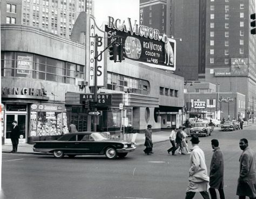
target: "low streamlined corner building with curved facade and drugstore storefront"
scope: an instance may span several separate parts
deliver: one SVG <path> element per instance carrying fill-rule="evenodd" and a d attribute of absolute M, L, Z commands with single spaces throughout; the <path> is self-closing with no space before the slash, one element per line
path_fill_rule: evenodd
<path fill-rule="evenodd" d="M 97 131 L 120 131 L 123 118 L 137 132 L 148 124 L 153 129 L 167 122 L 180 125 L 182 77 L 129 59 L 113 63 L 105 53 L 104 86 L 98 94 L 111 95 L 112 102 L 97 107 L 102 112 Z M 56 139 L 68 133 L 70 121 L 78 131 L 91 131 L 89 108 L 79 101 L 80 95 L 91 93 L 88 86 L 79 87 L 89 79 L 84 44 L 32 26 L 5 24 L 1 25 L 1 63 L 5 142 L 10 142 L 13 120 L 21 127 L 21 142 Z"/>

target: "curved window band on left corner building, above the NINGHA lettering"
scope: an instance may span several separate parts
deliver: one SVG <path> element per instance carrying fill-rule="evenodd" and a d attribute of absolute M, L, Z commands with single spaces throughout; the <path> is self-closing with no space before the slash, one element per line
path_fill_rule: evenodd
<path fill-rule="evenodd" d="M 84 66 L 24 52 L 1 52 L 2 76 L 35 78 L 75 84 Z"/>

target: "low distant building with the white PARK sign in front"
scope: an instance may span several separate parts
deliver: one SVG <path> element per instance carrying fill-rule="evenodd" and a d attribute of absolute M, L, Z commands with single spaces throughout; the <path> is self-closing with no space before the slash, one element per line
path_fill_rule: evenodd
<path fill-rule="evenodd" d="M 186 118 L 244 119 L 245 95 L 219 92 L 219 87 L 220 85 L 212 83 L 186 84 L 184 86 Z M 201 106 L 197 106 L 200 103 Z"/>

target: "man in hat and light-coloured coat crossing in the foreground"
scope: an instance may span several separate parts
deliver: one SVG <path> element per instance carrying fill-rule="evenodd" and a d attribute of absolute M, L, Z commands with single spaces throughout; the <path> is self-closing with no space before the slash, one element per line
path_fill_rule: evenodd
<path fill-rule="evenodd" d="M 210 199 L 205 154 L 198 146 L 200 142 L 198 136 L 192 136 L 190 141 L 192 143 L 192 152 L 190 155 L 190 169 L 188 170 L 188 186 L 185 199 L 193 198 L 197 192 L 200 192 L 204 199 Z"/>

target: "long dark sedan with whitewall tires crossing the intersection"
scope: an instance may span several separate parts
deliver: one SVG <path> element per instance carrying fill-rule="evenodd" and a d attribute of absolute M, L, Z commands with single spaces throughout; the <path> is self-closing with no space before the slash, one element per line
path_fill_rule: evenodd
<path fill-rule="evenodd" d="M 136 149 L 134 142 L 108 140 L 99 132 L 68 133 L 58 140 L 36 141 L 34 152 L 52 153 L 56 158 L 64 155 L 106 155 L 109 159 L 125 157 Z"/>

